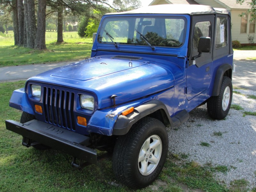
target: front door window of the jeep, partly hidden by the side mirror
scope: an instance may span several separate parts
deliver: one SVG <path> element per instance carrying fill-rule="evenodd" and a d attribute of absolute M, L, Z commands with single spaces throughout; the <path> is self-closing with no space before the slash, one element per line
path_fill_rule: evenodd
<path fill-rule="evenodd" d="M 193 48 L 198 48 L 200 37 L 211 37 L 211 23 L 210 21 L 197 22 L 194 27 Z"/>

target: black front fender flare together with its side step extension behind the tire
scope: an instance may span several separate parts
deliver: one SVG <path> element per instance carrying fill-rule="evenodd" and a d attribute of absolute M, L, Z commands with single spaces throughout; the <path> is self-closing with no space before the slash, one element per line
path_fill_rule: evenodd
<path fill-rule="evenodd" d="M 188 119 L 188 112 L 182 110 L 174 117 L 170 117 L 169 112 L 160 100 L 150 100 L 139 107 L 134 108 L 134 111 L 127 116 L 120 115 L 113 128 L 112 135 L 125 135 L 131 129 L 132 125 L 145 116 L 154 117 L 154 112 L 159 112 L 161 120 L 166 127 L 176 127 Z M 156 114 L 155 114 L 156 115 Z"/>

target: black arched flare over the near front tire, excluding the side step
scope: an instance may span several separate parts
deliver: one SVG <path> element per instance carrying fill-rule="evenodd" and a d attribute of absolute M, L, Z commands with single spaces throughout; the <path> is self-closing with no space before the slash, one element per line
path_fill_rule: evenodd
<path fill-rule="evenodd" d="M 158 119 L 166 127 L 170 127 L 173 124 L 164 103 L 160 100 L 150 100 L 147 103 L 134 108 L 133 113 L 127 116 L 120 115 L 116 120 L 112 134 L 125 135 L 127 132 L 129 132 L 133 124 L 146 116 Z"/>

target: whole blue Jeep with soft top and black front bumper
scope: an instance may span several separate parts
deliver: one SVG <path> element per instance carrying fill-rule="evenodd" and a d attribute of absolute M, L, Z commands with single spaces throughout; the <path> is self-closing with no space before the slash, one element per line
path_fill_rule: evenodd
<path fill-rule="evenodd" d="M 117 180 L 143 188 L 161 172 L 166 127 L 207 102 L 223 119 L 232 100 L 230 13 L 204 5 L 157 5 L 109 13 L 94 36 L 91 58 L 52 69 L 15 90 L 23 111 L 6 128 L 22 145 L 74 156 L 72 165 L 113 153 Z"/>

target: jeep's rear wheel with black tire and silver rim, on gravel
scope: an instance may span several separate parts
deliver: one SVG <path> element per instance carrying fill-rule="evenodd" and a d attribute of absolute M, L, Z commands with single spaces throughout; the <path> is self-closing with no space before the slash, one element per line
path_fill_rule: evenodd
<path fill-rule="evenodd" d="M 218 96 L 210 97 L 207 101 L 207 111 L 209 116 L 213 119 L 224 119 L 228 115 L 231 106 L 232 94 L 233 87 L 231 79 L 227 76 L 223 76 L 220 87 L 220 94 Z M 228 98 L 225 99 L 225 97 L 229 97 L 229 100 L 227 100 Z M 223 105 L 223 102 L 228 103 Z"/>

